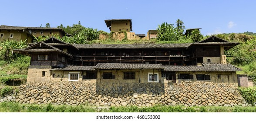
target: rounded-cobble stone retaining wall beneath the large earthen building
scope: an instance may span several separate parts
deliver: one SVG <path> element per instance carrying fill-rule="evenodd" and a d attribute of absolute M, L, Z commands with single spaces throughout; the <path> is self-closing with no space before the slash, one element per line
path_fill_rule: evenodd
<path fill-rule="evenodd" d="M 95 106 L 247 106 L 237 83 L 42 82 L 19 87 L 0 102 Z M 15 91 L 13 91 L 15 92 Z"/>

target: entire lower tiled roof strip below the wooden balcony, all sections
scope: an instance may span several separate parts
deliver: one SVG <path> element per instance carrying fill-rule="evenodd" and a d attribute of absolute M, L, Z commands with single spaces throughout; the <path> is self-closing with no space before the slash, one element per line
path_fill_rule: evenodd
<path fill-rule="evenodd" d="M 98 64 L 97 66 L 67 66 L 51 70 L 115 70 L 115 69 L 164 69 L 165 71 L 240 71 L 231 64 L 205 66 L 162 66 L 162 64 Z"/>

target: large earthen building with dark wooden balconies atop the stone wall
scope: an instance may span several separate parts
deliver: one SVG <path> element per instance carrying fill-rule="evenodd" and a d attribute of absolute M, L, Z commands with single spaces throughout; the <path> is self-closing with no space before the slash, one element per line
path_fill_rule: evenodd
<path fill-rule="evenodd" d="M 52 37 L 14 52 L 31 57 L 27 83 L 237 83 L 240 69 L 227 64 L 224 51 L 238 44 L 210 36 L 186 44 L 72 45 Z"/>

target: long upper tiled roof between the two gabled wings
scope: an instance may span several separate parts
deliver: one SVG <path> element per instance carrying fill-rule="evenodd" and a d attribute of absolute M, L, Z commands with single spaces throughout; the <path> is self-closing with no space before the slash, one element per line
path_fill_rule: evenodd
<path fill-rule="evenodd" d="M 103 49 L 103 48 L 187 48 L 192 43 L 182 44 L 74 44 L 76 48 Z"/>

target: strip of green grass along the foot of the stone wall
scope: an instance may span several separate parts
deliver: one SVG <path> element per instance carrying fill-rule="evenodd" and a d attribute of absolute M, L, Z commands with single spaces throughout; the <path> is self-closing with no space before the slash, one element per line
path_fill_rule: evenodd
<path fill-rule="evenodd" d="M 92 107 L 85 105 L 31 105 L 15 102 L 0 103 L 0 112 L 256 112 L 256 107 L 183 107 L 183 106 L 152 106 L 152 107 Z"/>

